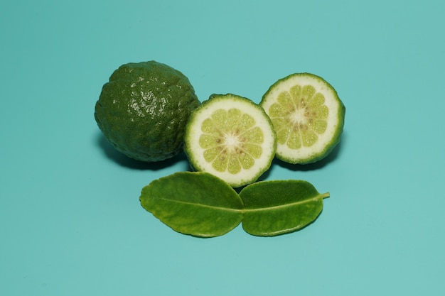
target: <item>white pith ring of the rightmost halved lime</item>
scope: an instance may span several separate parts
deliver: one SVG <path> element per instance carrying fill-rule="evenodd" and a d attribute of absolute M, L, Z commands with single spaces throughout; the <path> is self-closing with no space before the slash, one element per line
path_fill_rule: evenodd
<path fill-rule="evenodd" d="M 301 86 L 311 85 L 315 88 L 316 92 L 323 94 L 323 97 L 325 98 L 324 105 L 326 105 L 329 110 L 328 118 L 326 119 L 328 123 L 326 131 L 322 134 L 317 134 L 318 141 L 316 141 L 313 146 L 301 146 L 299 149 L 292 149 L 289 148 L 286 143 L 277 143 L 277 155 L 298 163 L 300 160 L 308 160 L 323 153 L 323 151 L 326 150 L 326 147 L 331 144 L 338 130 L 338 125 L 340 124 L 338 114 L 341 108 L 341 103 L 338 101 L 335 90 L 326 84 L 326 82 L 320 80 L 320 78 L 313 77 L 312 75 L 294 75 L 286 80 L 278 82 L 274 87 L 269 89 L 269 92 L 265 95 L 261 104 L 266 113 L 269 114 L 269 108 L 272 104 L 277 102 L 279 94 L 289 91 L 289 89 L 296 84 Z M 295 115 L 297 116 L 298 114 Z M 302 116 L 302 118 L 304 118 L 304 116 Z M 298 121 L 301 122 L 301 119 Z"/>

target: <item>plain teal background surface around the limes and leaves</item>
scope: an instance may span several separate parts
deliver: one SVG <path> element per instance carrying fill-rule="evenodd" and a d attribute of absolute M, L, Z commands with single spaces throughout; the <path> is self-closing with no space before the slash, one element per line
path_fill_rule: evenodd
<path fill-rule="evenodd" d="M 445 2 L 2 1 L 0 295 L 441 295 L 445 290 Z M 144 165 L 93 112 L 127 62 L 181 70 L 201 101 L 259 102 L 294 72 L 347 110 L 321 163 L 275 161 L 321 216 L 272 238 L 198 239 L 141 208 L 183 155 Z"/>

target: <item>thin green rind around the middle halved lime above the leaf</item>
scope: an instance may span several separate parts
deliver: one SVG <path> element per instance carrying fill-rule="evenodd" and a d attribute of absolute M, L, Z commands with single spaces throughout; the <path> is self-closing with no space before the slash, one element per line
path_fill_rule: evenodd
<path fill-rule="evenodd" d="M 230 181 L 225 180 L 223 177 L 218 176 L 218 177 L 221 177 L 223 180 L 225 180 L 225 182 L 227 182 L 230 186 L 237 188 L 237 187 L 242 187 L 244 185 L 251 184 L 252 182 L 255 182 L 256 180 L 258 180 L 258 178 L 261 177 L 261 175 L 263 175 L 264 172 L 269 170 L 270 166 L 272 165 L 272 161 L 274 160 L 274 156 L 275 156 L 275 152 L 276 152 L 276 148 L 277 148 L 276 147 L 277 146 L 277 134 L 274 131 L 272 121 L 270 121 L 269 116 L 266 114 L 266 112 L 264 111 L 262 106 L 259 106 L 259 104 L 255 104 L 250 99 L 247 99 L 245 97 L 240 97 L 236 94 L 212 94 L 212 95 L 210 95 L 208 100 L 202 102 L 200 104 L 200 106 L 198 106 L 195 110 L 192 111 L 191 116 L 188 119 L 188 123 L 186 125 L 185 136 L 184 136 L 184 152 L 186 153 L 188 161 L 189 161 L 191 168 L 193 170 L 205 171 L 205 168 L 202 165 L 198 165 L 197 161 L 195 161 L 195 158 L 193 157 L 193 154 L 195 153 L 195 148 L 193 148 L 193 145 L 191 143 L 190 135 L 191 135 L 191 133 L 193 133 L 193 131 L 195 131 L 196 128 L 198 128 L 197 126 L 195 126 L 195 121 L 196 121 L 195 118 L 198 116 L 199 112 L 201 110 L 205 109 L 210 104 L 215 104 L 215 102 L 223 101 L 225 99 L 225 97 L 227 97 L 227 96 L 237 97 L 238 99 L 242 99 L 245 102 L 249 102 L 249 104 L 251 106 L 254 106 L 254 108 L 259 110 L 260 113 L 264 116 L 264 119 L 272 127 L 272 136 L 273 136 L 273 139 L 272 139 L 273 152 L 271 154 L 271 157 L 265 161 L 262 168 L 260 168 L 257 171 L 257 173 L 254 174 L 252 177 L 250 177 L 248 179 L 239 178 L 237 180 L 237 182 L 230 182 Z"/>

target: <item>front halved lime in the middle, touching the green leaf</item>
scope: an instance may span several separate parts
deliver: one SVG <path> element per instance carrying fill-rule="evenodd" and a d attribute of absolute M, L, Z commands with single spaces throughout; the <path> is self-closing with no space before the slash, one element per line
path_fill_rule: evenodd
<path fill-rule="evenodd" d="M 264 109 L 235 94 L 210 96 L 192 112 L 186 126 L 184 150 L 193 168 L 232 187 L 257 180 L 270 167 L 276 146 Z"/>

